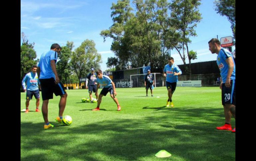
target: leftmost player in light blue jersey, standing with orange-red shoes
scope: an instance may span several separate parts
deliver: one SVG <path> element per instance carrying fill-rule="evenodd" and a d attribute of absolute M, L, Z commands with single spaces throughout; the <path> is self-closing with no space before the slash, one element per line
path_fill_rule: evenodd
<path fill-rule="evenodd" d="M 27 88 L 26 88 L 27 84 Z M 26 112 L 29 112 L 29 101 L 32 99 L 33 95 L 36 98 L 36 112 L 41 112 L 38 107 L 40 104 L 40 93 L 38 89 L 39 78 L 37 76 L 37 66 L 33 65 L 31 68 L 31 72 L 27 73 L 26 76 L 22 80 L 23 90 L 27 92 L 26 94 Z"/>

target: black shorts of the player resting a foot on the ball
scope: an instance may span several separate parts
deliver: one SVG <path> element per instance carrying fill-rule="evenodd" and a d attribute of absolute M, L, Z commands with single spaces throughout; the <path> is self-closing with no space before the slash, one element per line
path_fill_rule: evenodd
<path fill-rule="evenodd" d="M 63 84 L 61 82 L 58 84 L 55 84 L 54 78 L 39 79 L 39 80 L 41 84 L 43 100 L 53 99 L 53 93 L 55 94 L 55 96 L 64 95 L 66 93 L 66 90 Z"/>

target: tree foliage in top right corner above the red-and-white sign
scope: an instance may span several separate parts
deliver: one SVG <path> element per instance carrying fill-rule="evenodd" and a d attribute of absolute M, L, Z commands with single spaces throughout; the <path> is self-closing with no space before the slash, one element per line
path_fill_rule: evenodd
<path fill-rule="evenodd" d="M 215 0 L 215 11 L 221 16 L 227 16 L 228 21 L 231 23 L 231 29 L 235 39 L 235 29 L 236 29 L 236 6 L 235 0 Z"/>

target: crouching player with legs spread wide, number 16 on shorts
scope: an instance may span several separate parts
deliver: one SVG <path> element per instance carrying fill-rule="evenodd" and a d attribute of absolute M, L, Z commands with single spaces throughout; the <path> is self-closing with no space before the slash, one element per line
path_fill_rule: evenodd
<path fill-rule="evenodd" d="M 120 111 L 121 106 L 119 105 L 119 102 L 118 102 L 117 98 L 115 97 L 117 95 L 117 93 L 116 93 L 116 87 L 115 87 L 114 82 L 112 82 L 112 80 L 108 76 L 103 75 L 101 70 L 97 70 L 96 73 L 97 73 L 97 76 L 98 76 L 98 78 L 96 79 L 96 81 L 98 83 L 96 93 L 98 93 L 98 89 L 100 87 L 100 84 L 103 86 L 103 89 L 101 90 L 101 92 L 99 94 L 99 98 L 98 98 L 98 102 L 97 102 L 97 108 L 93 109 L 92 111 L 99 111 L 101 98 L 103 96 L 106 96 L 108 92 L 110 93 L 110 97 L 114 100 L 114 102 L 117 105 L 117 111 Z"/>

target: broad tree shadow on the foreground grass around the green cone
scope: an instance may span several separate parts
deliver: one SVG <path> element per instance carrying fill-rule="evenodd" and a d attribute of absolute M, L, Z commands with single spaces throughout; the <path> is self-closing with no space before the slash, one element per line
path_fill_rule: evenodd
<path fill-rule="evenodd" d="M 21 160 L 157 160 L 162 149 L 172 157 L 161 160 L 235 160 L 235 135 L 216 131 L 216 119 L 205 116 L 219 110 L 190 108 L 47 130 L 42 123 L 21 123 Z M 35 149 L 40 155 L 29 153 Z"/>

